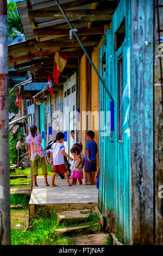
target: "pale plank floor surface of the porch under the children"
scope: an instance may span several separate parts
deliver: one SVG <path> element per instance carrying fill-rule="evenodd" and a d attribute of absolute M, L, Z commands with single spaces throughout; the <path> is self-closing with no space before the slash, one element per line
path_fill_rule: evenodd
<path fill-rule="evenodd" d="M 51 184 L 51 176 L 48 176 L 48 183 Z M 70 178 L 71 182 L 71 178 Z M 33 187 L 29 205 L 51 205 L 51 204 L 81 204 L 98 202 L 98 190 L 96 185 L 79 185 L 69 187 L 66 179 L 60 177 L 55 179 L 58 187 L 47 187 L 43 176 L 37 176 L 38 187 Z"/>

